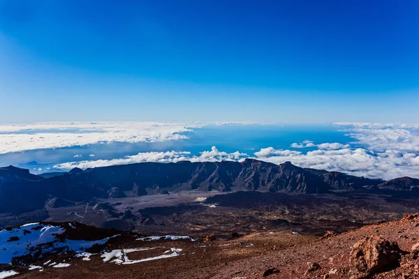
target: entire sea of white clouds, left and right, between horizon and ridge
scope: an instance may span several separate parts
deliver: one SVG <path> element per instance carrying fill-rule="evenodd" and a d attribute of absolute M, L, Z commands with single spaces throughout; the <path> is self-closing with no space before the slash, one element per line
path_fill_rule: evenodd
<path fill-rule="evenodd" d="M 0 126 L 0 154 L 108 142 L 187 140 L 187 133 L 193 128 L 247 124 L 255 123 L 86 122 Z M 90 160 L 61 163 L 54 168 L 68 170 L 74 167 L 85 169 L 142 162 L 175 163 L 181 160 L 214 162 L 256 158 L 275 164 L 291 161 L 300 167 L 327 169 L 371 178 L 419 177 L 419 124 L 335 123 L 334 125 L 348 135 L 350 142 L 313 142 L 307 139 L 291 144 L 289 149 L 274 149 L 272 146 L 267 146 L 254 153 L 239 151 L 227 153 L 213 146 L 210 151 L 202 151 L 199 155 L 187 151 L 166 151 L 142 152 L 112 160 L 94 160 L 94 156 L 91 156 Z M 76 132 L 63 133 L 65 130 L 76 130 Z M 307 148 L 311 151 L 304 151 Z"/>

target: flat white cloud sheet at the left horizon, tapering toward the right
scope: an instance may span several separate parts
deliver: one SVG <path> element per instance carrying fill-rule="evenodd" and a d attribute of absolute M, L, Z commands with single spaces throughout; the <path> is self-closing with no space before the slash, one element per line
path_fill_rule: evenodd
<path fill-rule="evenodd" d="M 186 140 L 193 128 L 257 122 L 43 122 L 0 126 L 0 154 L 109 142 Z"/>

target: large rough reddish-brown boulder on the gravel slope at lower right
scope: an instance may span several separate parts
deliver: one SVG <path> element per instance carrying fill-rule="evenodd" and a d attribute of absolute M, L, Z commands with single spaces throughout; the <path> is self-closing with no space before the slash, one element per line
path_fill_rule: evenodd
<path fill-rule="evenodd" d="M 353 245 L 351 265 L 358 278 L 372 276 L 399 266 L 401 252 L 393 241 L 386 241 L 380 236 L 367 236 Z"/>

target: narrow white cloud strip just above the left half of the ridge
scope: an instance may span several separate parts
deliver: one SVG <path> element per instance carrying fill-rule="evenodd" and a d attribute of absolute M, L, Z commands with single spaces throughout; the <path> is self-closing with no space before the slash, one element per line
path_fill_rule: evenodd
<path fill-rule="evenodd" d="M 158 162 L 158 163 L 175 163 L 182 160 L 190 160 L 191 162 L 218 162 L 221 160 L 240 160 L 247 157 L 248 154 L 238 151 L 227 153 L 219 151 L 212 146 L 211 151 L 203 151 L 200 156 L 191 156 L 188 151 L 167 151 L 167 152 L 142 152 L 133 156 L 125 156 L 112 160 L 84 160 L 80 162 L 68 162 L 54 165 L 56 169 L 69 170 L 74 167 L 87 169 L 88 167 L 105 167 L 109 165 L 126 165 L 132 163 Z"/>

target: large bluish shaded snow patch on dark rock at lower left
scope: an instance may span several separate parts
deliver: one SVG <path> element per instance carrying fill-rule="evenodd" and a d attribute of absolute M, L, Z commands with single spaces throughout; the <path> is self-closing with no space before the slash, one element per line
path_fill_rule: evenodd
<path fill-rule="evenodd" d="M 0 231 L 0 264 L 10 264 L 15 257 L 34 256 L 35 252 L 84 252 L 95 244 L 104 244 L 109 238 L 97 241 L 61 239 L 66 232 L 59 225 L 31 223 Z M 45 265 L 45 264 L 44 264 Z"/>

